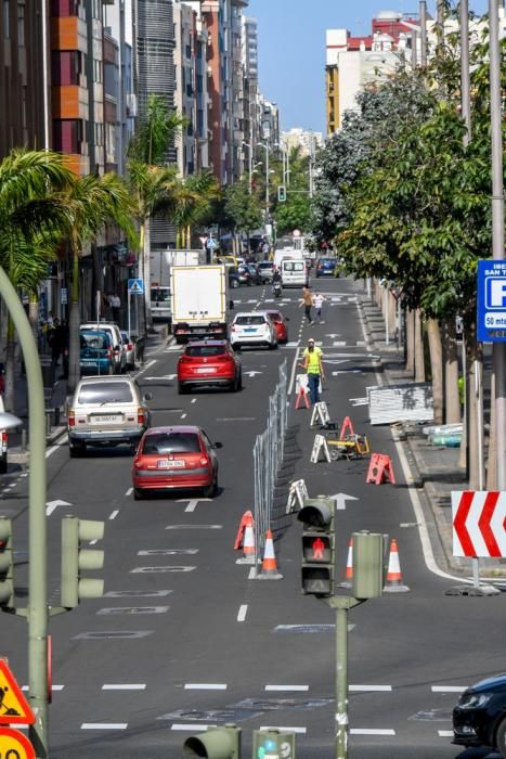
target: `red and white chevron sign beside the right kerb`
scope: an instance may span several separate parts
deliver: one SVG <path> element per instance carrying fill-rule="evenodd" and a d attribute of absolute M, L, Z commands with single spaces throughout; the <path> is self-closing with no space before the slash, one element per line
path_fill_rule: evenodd
<path fill-rule="evenodd" d="M 452 492 L 453 555 L 506 556 L 506 492 Z"/>

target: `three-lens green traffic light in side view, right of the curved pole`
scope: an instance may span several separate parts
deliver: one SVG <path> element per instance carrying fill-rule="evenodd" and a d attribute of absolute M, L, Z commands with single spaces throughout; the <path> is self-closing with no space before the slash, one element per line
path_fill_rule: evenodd
<path fill-rule="evenodd" d="M 102 569 L 104 552 L 81 549 L 81 540 L 102 540 L 104 523 L 65 516 L 62 519 L 62 606 L 75 608 L 81 599 L 100 599 L 104 581 L 80 577 L 81 569 Z"/>

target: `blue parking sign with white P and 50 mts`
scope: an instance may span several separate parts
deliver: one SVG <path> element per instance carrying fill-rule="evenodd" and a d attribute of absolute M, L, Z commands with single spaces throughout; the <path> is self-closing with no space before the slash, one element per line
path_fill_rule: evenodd
<path fill-rule="evenodd" d="M 478 339 L 506 343 L 506 260 L 478 261 Z"/>

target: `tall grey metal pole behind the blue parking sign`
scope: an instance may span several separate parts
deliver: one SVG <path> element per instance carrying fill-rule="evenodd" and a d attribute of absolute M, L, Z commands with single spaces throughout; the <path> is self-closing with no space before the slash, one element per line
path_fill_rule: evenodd
<path fill-rule="evenodd" d="M 490 119 L 492 139 L 492 256 L 504 260 L 504 185 L 498 2 L 489 0 Z M 493 344 L 497 490 L 506 490 L 506 344 Z"/>

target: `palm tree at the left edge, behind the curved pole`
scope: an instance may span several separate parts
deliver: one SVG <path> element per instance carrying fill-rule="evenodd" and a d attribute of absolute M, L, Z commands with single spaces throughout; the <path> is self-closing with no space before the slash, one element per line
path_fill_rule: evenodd
<path fill-rule="evenodd" d="M 14 150 L 0 164 L 0 266 L 15 287 L 35 298 L 48 260 L 68 224 L 60 193 L 73 180 L 65 157 Z M 5 408 L 14 410 L 14 325 L 8 320 Z"/>

